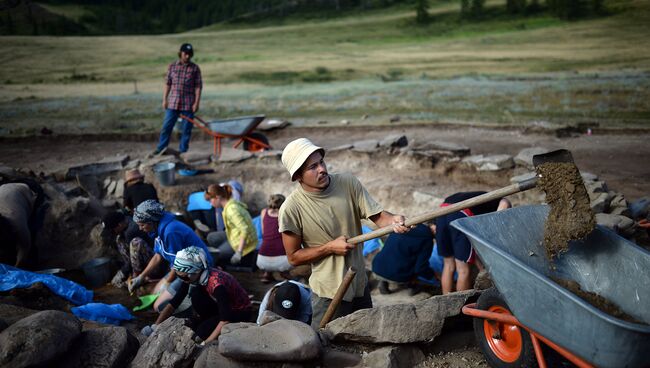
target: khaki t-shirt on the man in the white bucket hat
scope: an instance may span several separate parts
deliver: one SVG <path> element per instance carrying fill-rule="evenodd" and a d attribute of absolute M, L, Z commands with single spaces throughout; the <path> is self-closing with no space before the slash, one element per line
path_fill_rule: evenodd
<path fill-rule="evenodd" d="M 361 219 L 382 211 L 359 180 L 351 174 L 330 174 L 330 185 L 322 192 L 296 188 L 280 207 L 280 232 L 302 237 L 303 247 L 319 247 L 343 235 L 361 234 Z M 357 274 L 343 300 L 363 296 L 368 279 L 365 273 L 363 245 L 345 256 L 330 255 L 311 265 L 309 286 L 322 298 L 333 298 L 348 267 Z"/>

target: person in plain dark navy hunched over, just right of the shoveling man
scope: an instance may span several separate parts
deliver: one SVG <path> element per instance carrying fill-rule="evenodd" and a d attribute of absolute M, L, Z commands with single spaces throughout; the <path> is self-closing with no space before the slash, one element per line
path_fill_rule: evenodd
<path fill-rule="evenodd" d="M 378 276 L 379 292 L 390 294 L 388 282 L 408 284 L 410 294 L 420 291 L 417 278 L 432 279 L 435 271 L 429 266 L 433 251 L 434 231 L 430 226 L 419 224 L 404 234 L 388 236 L 384 247 L 372 260 L 372 272 Z"/>

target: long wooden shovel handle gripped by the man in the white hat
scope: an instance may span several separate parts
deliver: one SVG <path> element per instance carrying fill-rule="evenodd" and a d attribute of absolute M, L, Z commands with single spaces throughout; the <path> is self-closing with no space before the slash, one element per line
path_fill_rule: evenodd
<path fill-rule="evenodd" d="M 470 198 L 467 200 L 464 200 L 462 202 L 450 204 L 449 206 L 446 207 L 441 207 L 438 208 L 434 211 L 424 213 L 415 217 L 411 217 L 410 219 L 407 219 L 406 222 L 404 223 L 405 226 L 412 226 L 412 225 L 417 225 L 421 224 L 423 222 L 431 221 L 436 217 L 448 215 L 450 213 L 454 213 L 456 211 L 464 210 L 466 208 L 474 207 L 479 204 L 483 204 L 489 201 L 492 201 L 494 199 L 498 198 L 503 198 L 505 196 L 509 196 L 511 194 L 523 192 L 525 190 L 534 188 L 537 185 L 537 176 L 521 181 L 519 183 L 515 183 L 512 185 L 509 185 L 507 187 L 503 187 L 501 189 L 493 190 L 491 192 L 481 194 L 480 196 Z M 366 234 L 358 235 L 355 237 L 352 237 L 350 239 L 347 239 L 347 242 L 350 244 L 358 244 L 358 243 L 363 243 L 365 241 L 371 240 L 378 238 L 380 236 L 384 236 L 387 234 L 390 234 L 393 232 L 393 226 L 384 226 L 380 229 L 371 231 Z"/>

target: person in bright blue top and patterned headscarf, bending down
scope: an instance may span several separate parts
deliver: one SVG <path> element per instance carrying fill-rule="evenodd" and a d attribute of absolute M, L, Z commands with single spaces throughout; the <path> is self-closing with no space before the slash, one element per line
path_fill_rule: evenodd
<path fill-rule="evenodd" d="M 128 285 L 129 292 L 147 281 L 147 276 L 156 270 L 163 260 L 169 262 L 170 266 L 173 265 L 176 253 L 184 248 L 196 246 L 203 249 L 207 254 L 208 264 L 212 264 L 212 257 L 207 252 L 203 240 L 194 233 L 192 228 L 166 212 L 158 201 L 150 199 L 140 203 L 133 213 L 133 221 L 138 224 L 140 230 L 154 238 L 154 255 L 140 275 L 131 280 Z M 168 300 L 180 286 L 181 281 L 176 280 L 174 272 L 170 271 L 165 277 L 162 288 L 168 289 L 170 295 L 162 294 L 156 301 L 156 306 L 162 307 L 163 302 Z"/>

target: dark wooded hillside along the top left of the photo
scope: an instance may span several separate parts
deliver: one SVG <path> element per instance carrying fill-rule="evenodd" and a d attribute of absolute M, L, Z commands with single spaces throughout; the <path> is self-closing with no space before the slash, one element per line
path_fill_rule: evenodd
<path fill-rule="evenodd" d="M 412 4 L 414 0 L 0 0 L 0 34 L 177 33 L 220 22 L 292 14 L 320 17 Z"/>

